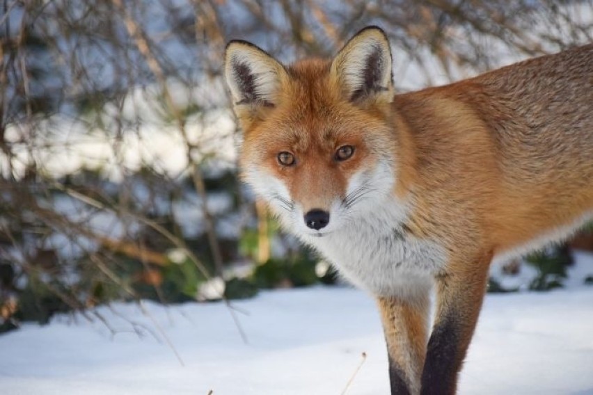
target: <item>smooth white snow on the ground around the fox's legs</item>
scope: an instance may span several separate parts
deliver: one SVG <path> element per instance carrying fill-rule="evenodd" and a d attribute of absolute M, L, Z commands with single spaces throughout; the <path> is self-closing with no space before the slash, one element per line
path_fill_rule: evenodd
<path fill-rule="evenodd" d="M 577 258 L 572 274 L 593 273 L 593 256 Z M 267 291 L 232 307 L 98 308 L 113 332 L 79 315 L 26 324 L 0 336 L 1 392 L 342 394 L 362 363 L 346 393 L 388 394 L 379 315 L 362 291 Z M 459 393 L 593 394 L 592 332 L 593 287 L 582 281 L 546 293 L 488 295 Z"/>

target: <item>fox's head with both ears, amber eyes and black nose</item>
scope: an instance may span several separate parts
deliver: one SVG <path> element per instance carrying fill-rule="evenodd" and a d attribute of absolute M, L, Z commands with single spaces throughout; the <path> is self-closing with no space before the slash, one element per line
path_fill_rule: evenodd
<path fill-rule="evenodd" d="M 242 178 L 292 232 L 324 236 L 356 225 L 393 193 L 391 63 L 388 39 L 374 26 L 331 60 L 292 65 L 249 42 L 228 44 Z"/>

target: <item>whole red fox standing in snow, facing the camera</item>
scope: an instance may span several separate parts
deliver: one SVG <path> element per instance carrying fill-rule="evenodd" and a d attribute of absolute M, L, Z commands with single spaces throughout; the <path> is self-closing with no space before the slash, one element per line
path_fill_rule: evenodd
<path fill-rule="evenodd" d="M 396 95 L 370 26 L 292 65 L 235 40 L 225 74 L 243 179 L 377 298 L 392 394 L 454 394 L 491 262 L 593 218 L 593 45 Z"/>

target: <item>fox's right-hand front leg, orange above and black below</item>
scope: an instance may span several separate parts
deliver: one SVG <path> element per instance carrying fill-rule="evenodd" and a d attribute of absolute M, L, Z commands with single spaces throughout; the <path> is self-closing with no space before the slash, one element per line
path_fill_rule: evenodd
<path fill-rule="evenodd" d="M 437 278 L 436 316 L 422 371 L 422 395 L 455 394 L 484 300 L 490 261 L 491 254 L 473 265 L 456 261 Z"/>

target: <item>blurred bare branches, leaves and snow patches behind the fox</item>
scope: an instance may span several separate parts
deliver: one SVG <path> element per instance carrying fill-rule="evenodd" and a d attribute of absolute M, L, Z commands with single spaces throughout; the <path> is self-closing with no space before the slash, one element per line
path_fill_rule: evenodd
<path fill-rule="evenodd" d="M 592 42 L 593 1 L 0 1 L 0 332 L 335 282 L 237 180 L 223 51 L 331 56 L 368 24 L 403 92 Z M 591 230 L 493 268 L 490 290 L 562 287 Z"/>

